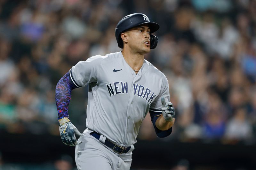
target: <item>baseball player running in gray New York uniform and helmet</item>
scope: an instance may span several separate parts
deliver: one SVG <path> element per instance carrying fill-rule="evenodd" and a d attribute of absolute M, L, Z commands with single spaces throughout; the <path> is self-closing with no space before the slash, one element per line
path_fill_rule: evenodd
<path fill-rule="evenodd" d="M 127 15 L 116 26 L 122 51 L 80 61 L 56 87 L 60 136 L 76 146 L 78 169 L 128 170 L 140 125 L 148 111 L 158 137 L 172 133 L 174 107 L 164 74 L 144 59 L 156 48 L 159 25 L 141 13 Z M 68 118 L 71 91 L 89 84 L 86 127 L 81 134 Z M 76 141 L 76 136 L 79 139 Z"/>

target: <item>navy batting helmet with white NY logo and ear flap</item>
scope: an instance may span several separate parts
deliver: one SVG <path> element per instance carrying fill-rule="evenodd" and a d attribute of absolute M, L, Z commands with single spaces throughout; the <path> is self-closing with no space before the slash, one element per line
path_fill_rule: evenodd
<path fill-rule="evenodd" d="M 142 13 L 134 13 L 134 14 L 127 15 L 118 22 L 115 30 L 115 36 L 116 36 L 118 47 L 124 48 L 123 40 L 121 39 L 121 36 L 120 36 L 121 33 L 125 32 L 130 28 L 133 28 L 135 26 L 139 26 L 142 24 L 148 24 L 148 27 L 150 28 L 150 48 L 151 49 L 156 48 L 158 38 L 155 35 L 152 35 L 151 33 L 156 32 L 159 29 L 159 25 L 155 22 L 150 22 L 148 17 Z"/>

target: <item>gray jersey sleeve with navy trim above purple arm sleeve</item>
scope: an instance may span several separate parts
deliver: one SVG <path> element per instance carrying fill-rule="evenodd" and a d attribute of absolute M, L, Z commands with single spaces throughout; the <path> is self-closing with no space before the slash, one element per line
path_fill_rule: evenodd
<path fill-rule="evenodd" d="M 97 82 L 99 73 L 97 72 L 103 56 L 96 55 L 86 61 L 80 61 L 69 70 L 70 78 L 77 87 L 84 87 L 88 83 Z"/>

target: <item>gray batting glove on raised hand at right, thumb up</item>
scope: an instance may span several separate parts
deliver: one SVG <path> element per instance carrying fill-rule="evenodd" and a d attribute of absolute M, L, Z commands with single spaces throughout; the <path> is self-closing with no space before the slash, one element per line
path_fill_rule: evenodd
<path fill-rule="evenodd" d="M 161 103 L 162 103 L 162 114 L 163 114 L 164 120 L 167 122 L 172 121 L 175 115 L 175 109 L 172 106 L 172 103 L 168 102 L 166 104 L 164 97 L 161 98 Z"/>

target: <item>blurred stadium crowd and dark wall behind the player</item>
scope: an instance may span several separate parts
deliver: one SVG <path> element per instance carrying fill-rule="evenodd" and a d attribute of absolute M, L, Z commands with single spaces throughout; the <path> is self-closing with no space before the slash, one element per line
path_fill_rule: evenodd
<path fill-rule="evenodd" d="M 136 12 L 160 25 L 146 59 L 168 78 L 176 122 L 160 139 L 146 117 L 131 169 L 255 169 L 255 0 L 0 0 L 0 169 L 76 169 L 55 86 L 78 61 L 120 51 L 115 26 Z M 75 89 L 80 131 L 86 105 Z"/>

